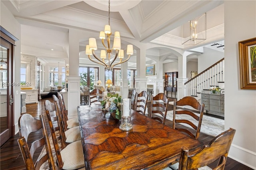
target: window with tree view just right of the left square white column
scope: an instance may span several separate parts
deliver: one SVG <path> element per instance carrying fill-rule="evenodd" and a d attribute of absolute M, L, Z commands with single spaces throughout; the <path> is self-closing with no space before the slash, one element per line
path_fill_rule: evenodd
<path fill-rule="evenodd" d="M 94 89 L 99 79 L 99 68 L 98 67 L 79 67 L 80 87 L 87 86 L 90 90 Z"/>

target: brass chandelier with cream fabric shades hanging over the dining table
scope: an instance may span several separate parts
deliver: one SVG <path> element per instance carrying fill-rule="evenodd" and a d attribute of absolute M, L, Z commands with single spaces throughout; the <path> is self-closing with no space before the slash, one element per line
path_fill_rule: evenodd
<path fill-rule="evenodd" d="M 106 34 L 106 36 L 105 36 Z M 97 44 L 96 44 L 96 39 L 95 38 L 89 38 L 89 45 L 86 45 L 86 55 L 88 55 L 88 58 L 90 59 L 90 61 L 103 65 L 107 70 L 109 71 L 113 71 L 113 67 L 115 65 L 124 63 L 126 61 L 128 61 L 131 57 L 131 55 L 133 54 L 133 46 L 132 45 L 127 45 L 127 55 L 128 58 L 124 61 L 122 61 L 122 59 L 124 58 L 124 50 L 121 49 L 121 39 L 120 39 L 120 33 L 119 32 L 115 32 L 114 34 L 114 43 L 113 43 L 113 47 L 110 48 L 110 36 L 112 35 L 111 30 L 110 30 L 110 0 L 108 0 L 108 25 L 105 26 L 105 30 L 104 32 L 101 31 L 100 32 L 100 39 L 102 40 L 102 44 L 105 47 L 106 50 L 101 50 L 100 51 L 100 58 L 96 56 L 95 54 L 95 50 L 97 49 Z M 107 46 L 104 44 L 104 39 L 107 37 Z M 116 50 L 114 59 L 112 59 L 112 61 L 110 61 L 110 54 L 112 54 L 112 51 Z M 91 58 L 91 55 L 93 55 L 98 61 L 94 61 Z M 106 56 L 108 56 L 108 63 L 105 62 Z M 117 59 L 117 57 L 120 59 L 120 61 L 118 63 L 114 64 L 114 61 Z"/>

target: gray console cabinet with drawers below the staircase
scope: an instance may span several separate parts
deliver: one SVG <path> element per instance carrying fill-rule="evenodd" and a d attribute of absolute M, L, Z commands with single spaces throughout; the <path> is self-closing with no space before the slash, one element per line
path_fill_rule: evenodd
<path fill-rule="evenodd" d="M 224 117 L 224 95 L 201 94 L 204 112 Z"/>

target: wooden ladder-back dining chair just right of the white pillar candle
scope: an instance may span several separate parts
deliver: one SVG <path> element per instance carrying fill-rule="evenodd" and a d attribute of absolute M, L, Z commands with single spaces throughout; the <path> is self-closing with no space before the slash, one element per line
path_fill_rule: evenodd
<path fill-rule="evenodd" d="M 140 93 L 137 93 L 136 95 L 136 104 L 135 104 L 135 110 L 143 115 L 146 113 L 148 103 L 148 93 L 146 91 L 142 91 Z"/>

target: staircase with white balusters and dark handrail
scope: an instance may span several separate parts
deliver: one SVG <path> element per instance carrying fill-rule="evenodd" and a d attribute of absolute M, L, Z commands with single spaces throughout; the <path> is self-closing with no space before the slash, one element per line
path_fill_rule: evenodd
<path fill-rule="evenodd" d="M 198 97 L 203 90 L 210 89 L 210 86 L 219 86 L 224 83 L 224 58 L 214 63 L 186 83 L 186 95 Z M 224 87 L 224 86 L 223 86 Z"/>

